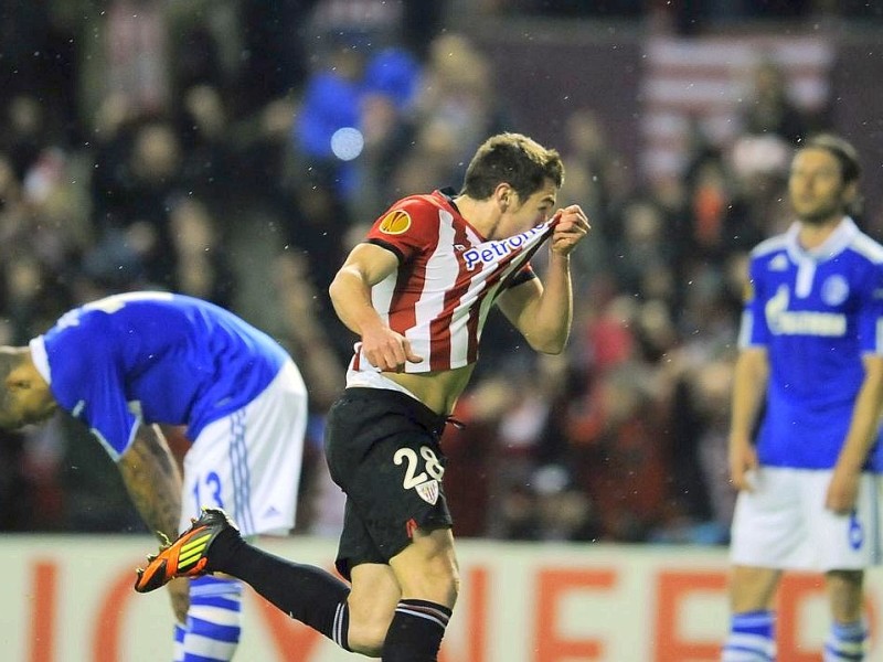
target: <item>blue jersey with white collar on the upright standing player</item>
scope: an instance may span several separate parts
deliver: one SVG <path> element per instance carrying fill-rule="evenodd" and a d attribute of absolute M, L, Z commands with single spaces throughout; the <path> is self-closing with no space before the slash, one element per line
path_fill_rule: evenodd
<path fill-rule="evenodd" d="M 765 346 L 769 359 L 760 463 L 830 469 L 864 380 L 862 356 L 883 353 L 883 246 L 849 217 L 813 250 L 798 232 L 752 252 L 740 345 Z M 869 469 L 883 471 L 882 447 L 877 433 Z"/>

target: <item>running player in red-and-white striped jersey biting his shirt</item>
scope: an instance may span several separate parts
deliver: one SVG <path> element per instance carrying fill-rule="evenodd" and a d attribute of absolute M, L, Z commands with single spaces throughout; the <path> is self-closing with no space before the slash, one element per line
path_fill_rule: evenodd
<path fill-rule="evenodd" d="M 436 660 L 459 584 L 439 439 L 493 305 L 535 350 L 564 350 L 570 254 L 588 221 L 577 205 L 555 207 L 563 177 L 556 151 L 519 134 L 491 137 L 459 194 L 393 204 L 331 284 L 338 316 L 360 337 L 326 437 L 331 477 L 347 494 L 337 567 L 349 584 L 247 545 L 219 511 L 145 573 L 187 575 L 175 559 L 196 545 L 205 560 L 198 572 L 245 579 L 347 650 Z M 530 259 L 543 245 L 541 284 Z"/>

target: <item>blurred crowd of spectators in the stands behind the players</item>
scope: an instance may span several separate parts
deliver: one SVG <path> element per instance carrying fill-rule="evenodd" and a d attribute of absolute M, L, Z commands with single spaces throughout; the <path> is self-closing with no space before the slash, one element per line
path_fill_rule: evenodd
<path fill-rule="evenodd" d="M 573 3 L 483 4 L 507 14 Z M 655 3 L 606 4 L 626 15 Z M 7 6 L 0 343 L 26 343 L 118 291 L 231 308 L 305 373 L 298 530 L 336 533 L 322 420 L 354 339 L 327 286 L 393 201 L 458 185 L 491 134 L 531 134 L 499 103 L 490 60 L 468 32 L 444 29 L 442 2 Z M 659 181 L 636 179 L 592 108 L 566 118 L 553 146 L 567 170 L 560 203 L 582 204 L 594 227 L 574 257 L 572 341 L 539 356 L 501 316 L 489 320 L 455 412 L 466 426 L 443 445 L 459 536 L 726 542 L 746 255 L 788 222 L 791 147 L 829 125 L 789 99 L 775 63 L 755 83 L 740 137 L 714 145 L 696 126 L 685 171 Z M 185 446 L 182 430 L 166 431 Z M 0 531 L 142 530 L 78 424 L 58 416 L 3 435 Z"/>

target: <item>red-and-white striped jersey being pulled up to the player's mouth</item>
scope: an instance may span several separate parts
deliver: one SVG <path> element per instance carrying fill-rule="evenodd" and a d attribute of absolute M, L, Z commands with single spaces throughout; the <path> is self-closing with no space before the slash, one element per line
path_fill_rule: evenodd
<path fill-rule="evenodd" d="M 553 221 L 506 239 L 482 237 L 450 197 L 435 191 L 396 202 L 365 241 L 392 250 L 398 269 L 371 290 L 374 309 L 411 342 L 422 363 L 407 373 L 475 363 L 481 329 L 504 288 L 535 275 L 529 260 L 552 233 Z M 350 372 L 376 371 L 355 344 Z"/>

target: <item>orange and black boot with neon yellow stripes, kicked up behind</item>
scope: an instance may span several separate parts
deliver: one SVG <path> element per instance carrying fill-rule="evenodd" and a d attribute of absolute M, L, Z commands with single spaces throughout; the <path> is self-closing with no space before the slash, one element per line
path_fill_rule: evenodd
<path fill-rule="evenodd" d="M 191 519 L 190 528 L 173 543 L 167 542 L 159 554 L 147 557 L 147 567 L 137 568 L 135 590 L 150 592 L 175 577 L 200 577 L 209 574 L 209 547 L 222 531 L 236 530 L 226 513 L 216 508 L 203 508 L 198 520 Z"/>

